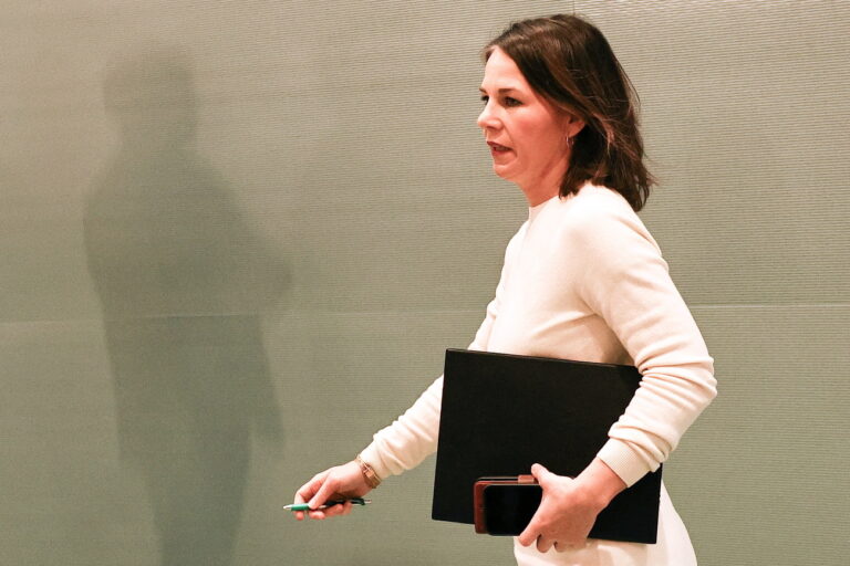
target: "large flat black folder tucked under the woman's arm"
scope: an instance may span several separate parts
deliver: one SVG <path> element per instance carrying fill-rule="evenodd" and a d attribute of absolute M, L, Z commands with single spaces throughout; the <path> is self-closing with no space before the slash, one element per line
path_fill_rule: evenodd
<path fill-rule="evenodd" d="M 474 523 L 473 484 L 541 463 L 578 475 L 634 396 L 633 366 L 446 350 L 432 518 Z M 661 468 L 621 492 L 591 538 L 655 543 Z"/>

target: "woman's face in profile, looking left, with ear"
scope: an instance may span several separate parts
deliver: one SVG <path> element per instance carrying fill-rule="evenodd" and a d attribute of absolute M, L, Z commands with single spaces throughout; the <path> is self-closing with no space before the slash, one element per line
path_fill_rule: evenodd
<path fill-rule="evenodd" d="M 577 120 L 538 95 L 499 48 L 487 60 L 480 91 L 485 106 L 478 126 L 496 175 L 519 185 L 529 200 L 533 193 L 557 195 L 569 163 L 567 135 L 574 135 Z"/>

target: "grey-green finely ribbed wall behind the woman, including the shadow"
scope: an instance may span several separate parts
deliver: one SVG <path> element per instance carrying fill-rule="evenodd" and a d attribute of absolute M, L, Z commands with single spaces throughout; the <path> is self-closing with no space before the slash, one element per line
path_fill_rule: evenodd
<path fill-rule="evenodd" d="M 850 2 L 755 0 L 0 1 L 2 563 L 512 564 L 433 459 L 281 506 L 471 338 L 526 214 L 478 50 L 573 3 L 716 358 L 666 469 L 701 564 L 846 564 Z"/>

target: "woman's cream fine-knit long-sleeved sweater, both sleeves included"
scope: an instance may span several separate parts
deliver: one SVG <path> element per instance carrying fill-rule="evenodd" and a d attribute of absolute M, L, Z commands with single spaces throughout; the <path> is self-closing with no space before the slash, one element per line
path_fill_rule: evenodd
<path fill-rule="evenodd" d="M 529 209 L 470 349 L 635 365 L 643 375 L 599 452 L 628 485 L 664 462 L 716 395 L 713 360 L 629 203 L 604 187 Z M 362 452 L 381 478 L 437 448 L 443 378 Z"/>

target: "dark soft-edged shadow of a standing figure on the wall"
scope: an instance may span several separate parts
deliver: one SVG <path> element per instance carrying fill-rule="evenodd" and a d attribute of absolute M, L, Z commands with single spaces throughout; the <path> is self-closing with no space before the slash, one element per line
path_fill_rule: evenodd
<path fill-rule="evenodd" d="M 227 565 L 252 434 L 282 442 L 259 313 L 287 269 L 196 151 L 190 59 L 154 49 L 106 74 L 121 146 L 85 203 L 123 460 L 145 479 L 163 565 Z"/>

